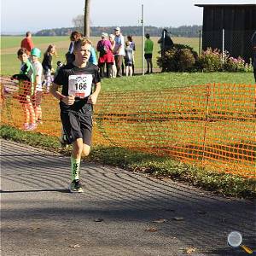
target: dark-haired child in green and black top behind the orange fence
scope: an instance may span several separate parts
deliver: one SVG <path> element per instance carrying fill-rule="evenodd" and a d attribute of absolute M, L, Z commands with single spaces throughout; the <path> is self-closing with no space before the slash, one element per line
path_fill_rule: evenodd
<path fill-rule="evenodd" d="M 27 49 L 20 48 L 17 55 L 21 62 L 20 73 L 13 75 L 12 79 L 19 80 L 19 100 L 25 115 L 24 130 L 32 131 L 37 128 L 35 112 L 32 106 L 32 96 L 34 95 L 33 68 L 28 59 Z"/>

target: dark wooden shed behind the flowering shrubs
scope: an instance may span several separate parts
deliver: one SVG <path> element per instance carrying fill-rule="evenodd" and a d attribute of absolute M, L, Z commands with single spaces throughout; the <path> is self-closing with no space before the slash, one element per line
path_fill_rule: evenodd
<path fill-rule="evenodd" d="M 256 4 L 195 4 L 203 7 L 202 49 L 223 48 L 246 61 L 252 56 L 251 38 L 256 31 Z"/>

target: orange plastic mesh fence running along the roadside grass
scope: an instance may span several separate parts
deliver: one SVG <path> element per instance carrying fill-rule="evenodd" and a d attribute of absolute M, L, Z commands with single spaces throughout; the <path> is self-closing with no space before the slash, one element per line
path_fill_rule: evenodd
<path fill-rule="evenodd" d="M 2 124 L 22 128 L 26 114 L 18 87 L 2 78 Z M 255 95 L 256 84 L 104 92 L 95 108 L 93 143 L 256 177 Z M 43 123 L 34 131 L 60 136 L 58 101 L 43 93 L 41 108 Z"/>

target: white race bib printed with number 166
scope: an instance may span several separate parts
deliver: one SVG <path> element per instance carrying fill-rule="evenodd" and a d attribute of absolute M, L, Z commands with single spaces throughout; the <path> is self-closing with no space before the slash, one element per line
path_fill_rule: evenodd
<path fill-rule="evenodd" d="M 90 96 L 92 84 L 91 74 L 70 75 L 68 77 L 68 95 L 81 99 Z"/>

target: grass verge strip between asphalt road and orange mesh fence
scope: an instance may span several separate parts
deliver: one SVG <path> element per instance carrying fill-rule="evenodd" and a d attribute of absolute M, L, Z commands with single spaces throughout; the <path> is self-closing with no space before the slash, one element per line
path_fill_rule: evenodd
<path fill-rule="evenodd" d="M 60 148 L 56 137 L 20 131 L 8 125 L 0 126 L 0 137 L 61 154 L 70 154 L 70 148 Z M 104 165 L 119 166 L 131 172 L 148 173 L 154 177 L 172 178 L 218 195 L 247 199 L 256 198 L 255 179 L 222 172 L 210 172 L 198 166 L 172 160 L 169 157 L 144 154 L 126 148 L 97 146 L 92 148 L 89 160 Z"/>

